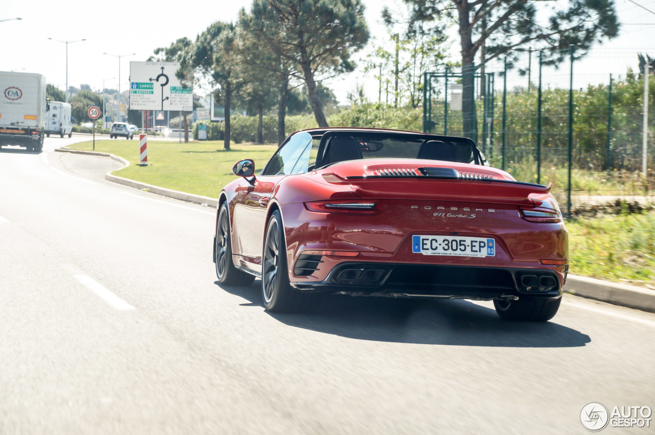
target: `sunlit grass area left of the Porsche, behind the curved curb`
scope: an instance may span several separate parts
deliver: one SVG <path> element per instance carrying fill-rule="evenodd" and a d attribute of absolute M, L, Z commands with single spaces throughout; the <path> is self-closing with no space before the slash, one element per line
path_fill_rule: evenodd
<path fill-rule="evenodd" d="M 90 151 L 93 142 L 68 146 L 71 150 Z M 164 140 L 148 140 L 149 166 L 139 163 L 138 140 L 96 140 L 96 151 L 111 153 L 130 162 L 130 166 L 113 174 L 138 182 L 166 187 L 195 195 L 217 198 L 223 186 L 236 178 L 234 163 L 253 159 L 255 170 L 263 168 L 277 145 L 235 144 L 223 149 L 222 140 L 179 144 Z"/>

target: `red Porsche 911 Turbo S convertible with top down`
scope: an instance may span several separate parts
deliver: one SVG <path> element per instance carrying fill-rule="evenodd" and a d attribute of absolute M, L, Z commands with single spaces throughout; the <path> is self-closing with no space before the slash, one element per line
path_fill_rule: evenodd
<path fill-rule="evenodd" d="M 550 187 L 489 167 L 468 138 L 386 129 L 297 131 L 221 191 L 214 263 L 224 285 L 261 278 L 264 305 L 318 292 L 493 300 L 546 321 L 569 268 Z"/>

